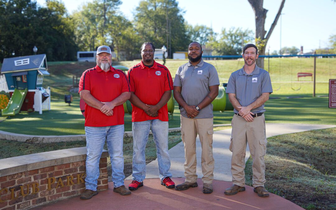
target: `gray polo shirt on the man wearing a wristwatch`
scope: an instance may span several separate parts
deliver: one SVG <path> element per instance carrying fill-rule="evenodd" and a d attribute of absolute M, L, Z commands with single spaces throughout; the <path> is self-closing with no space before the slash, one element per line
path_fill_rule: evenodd
<path fill-rule="evenodd" d="M 190 106 L 197 106 L 210 93 L 209 86 L 219 85 L 216 68 L 204 62 L 203 58 L 193 66 L 190 61 L 178 68 L 175 75 L 174 86 L 182 87 L 182 97 Z M 213 118 L 212 103 L 203 108 L 195 119 Z M 183 117 L 187 112 L 180 110 Z"/>

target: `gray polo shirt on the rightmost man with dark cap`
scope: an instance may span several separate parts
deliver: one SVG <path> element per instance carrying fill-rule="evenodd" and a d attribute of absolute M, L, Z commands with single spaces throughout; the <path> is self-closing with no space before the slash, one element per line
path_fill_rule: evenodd
<path fill-rule="evenodd" d="M 226 93 L 236 94 L 238 102 L 246 107 L 253 103 L 262 93 L 272 93 L 271 79 L 267 71 L 260 69 L 255 65 L 251 74 L 247 74 L 243 68 L 233 72 L 229 78 L 226 87 Z M 251 112 L 265 112 L 264 104 L 260 107 L 251 110 Z M 234 109 L 235 113 L 238 110 Z"/>

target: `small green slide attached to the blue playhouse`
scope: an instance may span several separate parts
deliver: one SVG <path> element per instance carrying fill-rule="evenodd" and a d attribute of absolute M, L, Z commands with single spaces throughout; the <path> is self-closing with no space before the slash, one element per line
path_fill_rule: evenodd
<path fill-rule="evenodd" d="M 23 101 L 27 95 L 28 89 L 18 90 L 15 88 L 12 97 L 9 100 L 7 107 L 1 110 L 2 116 L 14 116 L 20 112 Z"/>

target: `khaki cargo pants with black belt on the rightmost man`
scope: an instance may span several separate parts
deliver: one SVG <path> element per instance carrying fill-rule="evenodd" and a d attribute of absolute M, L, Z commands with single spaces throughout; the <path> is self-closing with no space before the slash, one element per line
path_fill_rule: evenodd
<path fill-rule="evenodd" d="M 265 116 L 255 117 L 247 122 L 243 117 L 234 115 L 232 122 L 230 151 L 232 151 L 231 173 L 233 184 L 245 186 L 245 154 L 248 142 L 253 158 L 253 187 L 264 186 L 266 154 Z"/>

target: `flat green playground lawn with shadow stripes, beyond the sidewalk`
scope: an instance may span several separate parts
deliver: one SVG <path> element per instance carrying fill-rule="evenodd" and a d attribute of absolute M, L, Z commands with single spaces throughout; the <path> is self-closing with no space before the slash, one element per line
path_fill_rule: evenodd
<path fill-rule="evenodd" d="M 265 104 L 266 123 L 336 124 L 336 109 L 328 108 L 328 97 L 269 99 Z M 214 112 L 214 124 L 231 123 L 233 111 Z M 131 115 L 125 114 L 125 131 L 131 131 Z M 180 114 L 175 104 L 174 117 L 169 117 L 169 127 L 180 126 Z M 79 98 L 71 106 L 64 101 L 52 100 L 51 110 L 20 113 L 0 122 L 0 130 L 29 135 L 85 134 L 84 117 L 79 109 Z"/>

